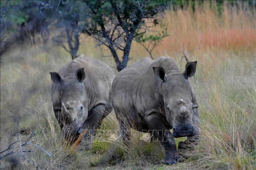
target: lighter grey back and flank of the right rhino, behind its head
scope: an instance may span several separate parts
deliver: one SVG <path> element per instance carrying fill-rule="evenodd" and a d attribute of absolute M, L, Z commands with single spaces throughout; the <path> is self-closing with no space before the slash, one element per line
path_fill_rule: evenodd
<path fill-rule="evenodd" d="M 157 60 L 146 57 L 119 72 L 112 85 L 114 108 L 120 105 L 127 112 L 137 112 L 141 117 L 147 113 L 159 112 L 161 101 L 158 98 L 157 80 L 153 70 L 153 67 L 159 66 L 166 72 L 179 70 L 169 57 L 159 57 Z"/>

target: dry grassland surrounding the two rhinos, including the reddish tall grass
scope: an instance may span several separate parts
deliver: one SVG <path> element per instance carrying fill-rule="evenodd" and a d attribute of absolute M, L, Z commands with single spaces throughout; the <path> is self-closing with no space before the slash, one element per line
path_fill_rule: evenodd
<path fill-rule="evenodd" d="M 176 1 L 162 14 L 163 25 L 153 27 L 142 39 L 131 43 L 129 62 L 149 57 L 140 44 L 151 33 L 166 29 L 167 36 L 152 50 L 152 58 L 171 57 L 183 71 L 182 56 L 197 60 L 197 71 L 190 83 L 199 104 L 202 140 L 184 162 L 163 165 L 164 149 L 157 142 L 132 138 L 132 146 L 120 145 L 106 169 L 255 169 L 256 168 L 256 8 L 255 1 Z M 2 4 L 1 4 L 2 5 Z M 20 14 L 21 15 L 21 14 Z M 162 26 L 162 27 L 161 27 Z M 34 132 L 35 146 L 15 143 L 15 153 L 1 159 L 1 169 L 97 169 L 110 142 L 95 141 L 91 150 L 77 142 L 68 143 L 54 116 L 49 72 L 58 71 L 71 60 L 70 53 L 56 38 L 62 28 L 49 27 L 49 38 L 35 32 L 34 43 L 15 43 L 1 54 L 0 150 L 17 140 L 23 142 Z M 64 29 L 65 31 L 65 29 Z M 1 30 L 2 32 L 2 30 Z M 3 42 L 1 35 L 1 43 Z M 34 38 L 36 37 L 36 38 Z M 42 40 L 42 41 L 41 41 Z M 79 50 L 110 65 L 117 65 L 107 47 L 93 37 L 79 33 Z M 145 43 L 149 43 L 147 41 Z M 144 42 L 143 42 L 144 43 Z M 68 42 L 63 42 L 68 47 Z M 146 44 L 147 45 L 147 44 Z M 1 46 L 2 48 L 2 46 Z M 189 52 L 189 53 L 187 53 Z M 122 51 L 117 51 L 122 55 Z M 104 56 L 104 57 L 103 57 Z M 17 120 L 18 136 L 17 136 Z M 108 115 L 98 133 L 118 129 L 114 112 Z M 142 133 L 132 131 L 142 137 Z M 178 143 L 186 138 L 177 138 Z M 9 150 L 12 151 L 12 150 Z M 24 156 L 24 155 L 25 156 Z M 1 157 L 5 153 L 1 153 Z M 102 167 L 101 167 L 102 168 Z"/>

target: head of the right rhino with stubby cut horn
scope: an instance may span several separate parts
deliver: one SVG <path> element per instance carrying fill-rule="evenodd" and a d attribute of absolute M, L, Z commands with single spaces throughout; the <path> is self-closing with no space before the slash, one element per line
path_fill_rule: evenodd
<path fill-rule="evenodd" d="M 178 70 L 165 72 L 162 67 L 153 67 L 154 75 L 159 81 L 159 92 L 162 96 L 162 105 L 166 113 L 166 119 L 173 127 L 173 136 L 194 136 L 192 124 L 192 97 L 191 87 L 188 81 L 196 72 L 196 63 L 189 62 L 185 71 Z"/>

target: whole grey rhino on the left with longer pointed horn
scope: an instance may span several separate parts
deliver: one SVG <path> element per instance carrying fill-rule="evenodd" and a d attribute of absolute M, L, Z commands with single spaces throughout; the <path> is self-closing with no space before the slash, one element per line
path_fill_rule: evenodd
<path fill-rule="evenodd" d="M 58 73 L 50 74 L 52 105 L 65 138 L 74 141 L 83 130 L 90 130 L 88 136 L 83 135 L 89 143 L 95 128 L 112 111 L 109 97 L 115 77 L 113 70 L 105 63 L 80 55 Z"/>

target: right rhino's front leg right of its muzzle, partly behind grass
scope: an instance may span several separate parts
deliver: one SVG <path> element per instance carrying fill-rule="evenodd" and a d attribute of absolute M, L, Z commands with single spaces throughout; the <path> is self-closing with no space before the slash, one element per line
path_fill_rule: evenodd
<path fill-rule="evenodd" d="M 187 137 L 187 140 L 179 142 L 178 145 L 178 152 L 182 152 L 187 149 L 192 149 L 194 145 L 197 145 L 197 143 L 200 140 L 201 136 L 201 128 L 200 128 L 200 122 L 199 122 L 199 115 L 197 112 L 197 107 L 198 105 L 193 105 L 193 125 L 194 125 L 194 130 L 196 134 L 192 137 Z"/>

